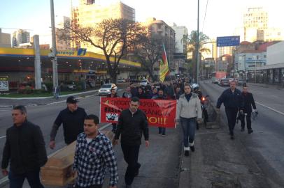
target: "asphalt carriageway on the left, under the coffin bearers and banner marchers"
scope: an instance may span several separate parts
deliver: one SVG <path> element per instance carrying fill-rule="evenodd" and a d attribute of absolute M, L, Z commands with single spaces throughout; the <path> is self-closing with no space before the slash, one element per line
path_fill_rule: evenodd
<path fill-rule="evenodd" d="M 120 95 L 121 93 L 122 91 L 119 91 Z M 60 127 L 56 137 L 56 149 L 50 150 L 48 147 L 52 123 L 59 111 L 65 107 L 65 100 L 49 105 L 27 107 L 28 119 L 41 127 L 48 155 L 65 146 L 62 127 Z M 87 114 L 94 113 L 99 115 L 99 96 L 92 95 L 83 97 L 80 99 L 79 107 L 83 107 L 87 111 Z M 1 111 L 0 120 L 0 151 L 2 152 L 6 139 L 1 136 L 5 136 L 6 129 L 12 125 L 10 111 Z M 108 129 L 109 128 L 111 127 L 108 127 Z M 134 180 L 135 187 L 178 187 L 181 152 L 180 135 L 179 129 L 171 129 L 167 130 L 166 137 L 163 138 L 161 135 L 157 134 L 157 127 L 150 127 L 150 148 L 145 148 L 143 144 L 141 146 L 139 162 L 141 162 L 142 166 L 139 176 Z M 118 159 L 118 173 L 120 176 L 118 187 L 123 187 L 124 173 L 127 166 L 124 162 L 120 145 L 115 146 L 115 155 Z M 3 178 L 2 175 L 0 176 L 0 180 L 1 178 Z M 104 187 L 107 187 L 107 184 L 108 180 L 106 180 Z M 8 187 L 8 185 L 2 187 Z M 24 187 L 29 187 L 27 182 L 25 182 Z"/>

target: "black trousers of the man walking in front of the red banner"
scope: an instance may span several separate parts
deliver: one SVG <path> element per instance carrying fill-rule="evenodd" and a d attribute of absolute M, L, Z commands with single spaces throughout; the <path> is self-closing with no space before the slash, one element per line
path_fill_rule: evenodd
<path fill-rule="evenodd" d="M 138 163 L 140 145 L 128 146 L 121 143 L 121 148 L 125 162 L 128 164 L 125 172 L 125 184 L 132 185 L 135 175 L 140 167 L 140 164 Z"/>

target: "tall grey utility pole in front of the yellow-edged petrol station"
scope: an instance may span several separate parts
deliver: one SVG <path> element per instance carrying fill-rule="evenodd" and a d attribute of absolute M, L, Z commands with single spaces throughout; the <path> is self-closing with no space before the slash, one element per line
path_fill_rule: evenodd
<path fill-rule="evenodd" d="M 51 14 L 51 32 L 52 32 L 52 78 L 53 88 L 58 86 L 58 72 L 57 72 L 57 50 L 56 50 L 56 36 L 55 36 L 55 9 L 53 0 L 50 0 L 50 14 Z"/>

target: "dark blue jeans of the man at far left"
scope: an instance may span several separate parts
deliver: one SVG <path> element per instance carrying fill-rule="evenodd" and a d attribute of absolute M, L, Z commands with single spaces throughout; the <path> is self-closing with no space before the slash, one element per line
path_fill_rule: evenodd
<path fill-rule="evenodd" d="M 8 178 L 10 180 L 10 188 L 22 188 L 25 178 L 27 178 L 31 188 L 43 188 L 41 180 L 39 180 L 39 169 L 38 171 L 31 171 L 22 174 L 15 174 L 10 171 Z"/>

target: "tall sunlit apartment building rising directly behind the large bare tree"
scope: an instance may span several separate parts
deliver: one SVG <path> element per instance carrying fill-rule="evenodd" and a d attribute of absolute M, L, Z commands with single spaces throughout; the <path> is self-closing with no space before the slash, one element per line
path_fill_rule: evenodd
<path fill-rule="evenodd" d="M 75 27 L 95 26 L 104 19 L 128 19 L 135 21 L 135 10 L 121 1 L 108 6 L 94 3 L 94 1 L 80 0 L 79 6 L 72 9 L 72 24 Z M 71 42 L 73 48 L 85 47 L 90 52 L 102 53 L 101 49 L 92 45 Z"/>

